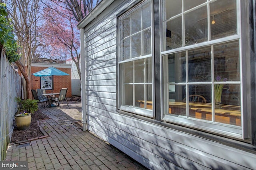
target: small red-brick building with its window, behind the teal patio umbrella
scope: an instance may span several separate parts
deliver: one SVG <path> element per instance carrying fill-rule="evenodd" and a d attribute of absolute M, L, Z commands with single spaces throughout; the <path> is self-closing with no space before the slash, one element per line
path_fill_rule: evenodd
<path fill-rule="evenodd" d="M 36 77 L 32 75 L 35 72 L 53 66 L 59 70 L 68 73 L 68 76 L 45 76 Z M 46 93 L 58 93 L 61 88 L 68 88 L 66 97 L 71 98 L 71 64 L 56 63 L 32 63 L 31 64 L 31 89 L 45 88 Z"/>

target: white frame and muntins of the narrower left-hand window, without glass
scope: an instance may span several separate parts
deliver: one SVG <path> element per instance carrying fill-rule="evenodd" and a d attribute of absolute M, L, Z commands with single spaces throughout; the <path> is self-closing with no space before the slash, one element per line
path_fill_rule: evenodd
<path fill-rule="evenodd" d="M 133 8 L 131 8 L 130 10 L 128 10 L 127 12 L 125 12 L 124 14 L 122 14 L 122 15 L 120 15 L 119 17 L 118 17 L 118 19 L 117 19 L 117 25 L 119 25 L 119 19 L 122 19 L 124 16 L 127 16 L 128 14 L 130 14 L 133 10 L 136 10 L 137 8 L 139 8 L 140 6 L 142 6 L 143 4 L 145 4 L 145 3 L 148 3 L 148 1 L 149 1 L 149 3 L 150 3 L 150 10 L 151 10 L 151 16 L 150 16 L 150 18 L 151 18 L 151 26 L 150 26 L 150 30 L 151 30 L 151 43 L 150 43 L 150 45 L 151 45 L 151 54 L 149 54 L 149 55 L 144 55 L 144 56 L 139 56 L 139 57 L 134 57 L 134 58 L 131 58 L 130 57 L 130 59 L 126 59 L 126 60 L 123 60 L 123 61 L 121 61 L 121 50 L 120 50 L 120 41 L 121 41 L 121 39 L 120 39 L 120 36 L 121 35 L 119 35 L 119 29 L 117 29 L 117 45 L 118 45 L 118 82 L 119 82 L 119 84 L 118 84 L 118 109 L 120 109 L 120 110 L 122 110 L 122 111 L 127 111 L 127 112 L 129 112 L 129 113 L 136 113 L 136 114 L 139 114 L 139 115 L 144 115 L 144 116 L 147 116 L 147 117 L 154 117 L 154 114 L 153 114 L 153 104 L 152 104 L 152 109 L 146 109 L 146 104 L 144 104 L 144 108 L 140 108 L 140 107 L 136 107 L 135 106 L 135 100 L 134 100 L 134 98 L 135 98 L 135 92 L 134 92 L 134 88 L 133 88 L 133 106 L 127 106 L 127 105 L 122 105 L 122 101 L 124 101 L 124 98 L 125 98 L 125 96 L 123 95 L 124 94 L 124 86 L 123 86 L 123 84 L 124 84 L 124 77 L 122 76 L 122 63 L 126 63 L 126 62 L 133 62 L 134 63 L 134 61 L 137 61 L 137 60 L 140 60 L 140 59 L 144 59 L 144 60 L 146 60 L 146 59 L 148 59 L 148 58 L 151 58 L 151 61 L 152 61 L 152 53 L 153 53 L 153 49 L 152 49 L 152 42 L 153 42 L 153 35 L 152 35 L 152 33 L 153 33 L 153 31 L 152 31 L 152 25 L 153 25 L 153 22 L 152 22 L 152 14 L 153 14 L 153 12 L 152 12 L 152 1 L 151 0 L 144 0 L 144 1 L 142 1 L 141 3 L 139 3 L 138 5 L 136 5 L 136 6 L 134 6 Z M 119 28 L 119 26 L 118 26 L 118 28 Z M 142 51 L 143 51 L 143 31 L 144 30 L 146 30 L 146 29 L 148 29 L 149 27 L 147 27 L 147 28 L 145 28 L 145 29 L 142 29 L 140 32 L 141 32 L 141 36 L 142 36 L 142 41 L 141 41 L 141 43 L 142 43 Z M 130 34 L 130 37 L 132 36 L 132 34 Z M 131 40 L 130 40 L 131 41 Z M 132 55 L 132 48 L 130 48 L 130 55 Z M 151 62 L 152 64 L 151 64 L 151 66 L 152 66 L 152 68 L 153 68 L 153 62 Z M 144 67 L 144 74 L 146 74 L 146 71 L 145 71 L 145 67 Z M 134 75 L 134 70 L 133 70 L 133 75 Z M 153 76 L 153 69 L 152 69 L 152 76 Z M 134 76 L 133 76 L 134 77 Z M 146 77 L 146 76 L 144 76 L 144 77 Z M 131 83 L 133 86 L 136 84 L 136 83 Z M 141 84 L 141 83 L 139 83 L 139 84 Z M 154 95 L 153 95 L 153 89 L 154 89 L 154 87 L 153 87 L 153 78 L 152 78 L 152 82 L 151 83 L 147 83 L 146 82 L 146 80 L 144 81 L 144 90 L 146 91 L 146 85 L 147 84 L 152 84 L 152 102 L 154 102 Z M 146 101 L 146 92 L 144 93 L 144 100 Z M 145 102 L 146 103 L 146 102 Z"/>

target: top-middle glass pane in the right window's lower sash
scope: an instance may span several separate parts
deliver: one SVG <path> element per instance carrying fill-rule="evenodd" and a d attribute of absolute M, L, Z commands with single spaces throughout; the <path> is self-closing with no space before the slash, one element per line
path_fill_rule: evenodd
<path fill-rule="evenodd" d="M 210 82 L 211 80 L 211 48 L 188 51 L 188 81 Z"/>

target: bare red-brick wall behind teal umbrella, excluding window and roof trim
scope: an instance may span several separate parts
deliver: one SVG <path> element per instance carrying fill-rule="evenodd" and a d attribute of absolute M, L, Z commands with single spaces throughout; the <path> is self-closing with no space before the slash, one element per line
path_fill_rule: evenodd
<path fill-rule="evenodd" d="M 31 74 L 43 70 L 48 67 L 31 67 Z M 56 67 L 57 68 L 57 67 Z M 61 88 L 68 88 L 66 98 L 71 98 L 71 68 L 58 68 L 59 70 L 68 73 L 68 76 L 53 76 L 53 90 L 46 90 L 46 93 L 59 93 Z M 40 88 L 40 77 L 32 75 L 31 89 Z"/>

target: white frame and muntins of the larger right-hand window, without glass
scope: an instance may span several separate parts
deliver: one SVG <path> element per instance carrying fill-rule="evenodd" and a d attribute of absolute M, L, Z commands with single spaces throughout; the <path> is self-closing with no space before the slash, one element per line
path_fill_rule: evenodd
<path fill-rule="evenodd" d="M 183 0 L 182 0 L 183 1 Z M 204 3 L 204 5 L 207 5 L 207 8 L 209 8 L 209 4 L 211 2 L 214 2 L 215 0 L 208 0 L 206 3 Z M 188 60 L 187 59 L 187 50 L 189 49 L 196 49 L 196 48 L 199 48 L 199 47 L 204 47 L 204 46 L 210 46 L 210 45 L 215 45 L 215 44 L 218 44 L 218 43 L 223 43 L 223 42 L 227 42 L 227 41 L 232 41 L 232 40 L 239 40 L 239 59 L 240 59 L 240 81 L 239 82 L 234 82 L 235 84 L 237 83 L 240 83 L 240 92 L 241 92 L 241 127 L 239 126 L 234 126 L 234 125 L 228 125 L 228 124 L 222 124 L 222 123 L 217 123 L 217 122 L 210 122 L 210 121 L 205 121 L 205 120 L 201 120 L 201 119 L 195 119 L 195 118 L 191 118 L 191 117 L 185 117 L 185 116 L 172 116 L 172 115 L 168 115 L 168 114 L 164 114 L 163 113 L 163 116 L 162 116 L 162 119 L 164 121 L 167 121 L 167 122 L 171 122 L 171 123 L 177 123 L 177 124 L 180 124 L 180 125 L 185 125 L 185 126 L 188 126 L 188 127 L 192 127 L 194 129 L 201 129 L 201 130 L 204 130 L 204 131 L 208 131 L 208 132 L 213 132 L 213 133 L 217 133 L 217 134 L 222 134 L 222 135 L 228 135 L 230 137 L 235 137 L 235 138 L 239 138 L 239 139 L 244 139 L 246 138 L 246 135 L 245 135 L 245 132 L 244 132 L 244 129 L 245 129 L 245 126 L 244 126 L 244 107 L 243 107 L 243 80 L 242 80 L 242 63 L 243 63 L 243 60 L 242 60 L 242 43 L 241 43 L 241 10 L 240 10 L 240 1 L 236 1 L 236 14 L 237 14 L 237 35 L 231 35 L 231 36 L 228 36 L 228 37 L 223 37 L 223 38 L 220 38 L 220 39 L 215 39 L 215 40 L 210 40 L 210 22 L 208 21 L 208 41 L 206 42 L 202 42 L 202 43 L 198 43 L 198 44 L 194 44 L 194 45 L 188 45 L 188 46 L 185 46 L 184 44 L 184 20 L 182 20 L 182 29 L 183 29 L 183 46 L 182 47 L 179 47 L 179 48 L 176 48 L 176 49 L 171 49 L 171 50 L 168 50 L 168 51 L 164 51 L 164 47 L 166 47 L 166 39 L 164 38 L 164 33 L 166 30 L 166 27 L 165 27 L 165 23 L 169 20 L 166 20 L 166 21 L 161 21 L 161 24 L 162 27 L 161 27 L 161 37 L 162 37 L 162 43 L 161 43 L 161 49 L 162 49 L 162 52 L 160 53 L 161 54 L 161 70 L 162 71 L 162 82 L 163 82 L 163 99 L 162 99 L 162 103 L 163 103 L 163 108 L 162 110 L 164 111 L 164 113 L 168 113 L 168 105 L 165 104 L 166 101 L 168 101 L 168 82 L 167 82 L 167 64 L 168 64 L 168 61 L 166 59 L 164 59 L 164 55 L 168 55 L 168 54 L 172 54 L 172 53 L 176 53 L 176 52 L 181 52 L 181 51 L 186 51 L 186 61 Z M 182 5 L 184 5 L 184 3 L 182 3 Z M 199 8 L 199 7 L 202 7 L 202 4 L 198 7 L 195 7 L 195 8 Z M 183 11 L 184 7 L 182 8 L 182 14 L 179 14 L 182 15 L 182 18 L 184 17 L 184 11 Z M 163 8 L 161 7 L 161 10 L 163 10 Z M 173 18 L 175 18 L 176 16 L 174 16 Z M 162 16 L 160 17 L 162 18 Z M 210 18 L 210 12 L 208 10 L 208 19 Z M 213 73 L 212 73 L 213 74 Z M 182 84 L 182 83 L 181 83 Z M 188 87 L 188 83 L 185 83 L 185 85 Z M 212 86 L 213 86 L 213 83 L 212 83 Z M 214 92 L 212 92 L 213 94 Z M 214 94 L 213 94 L 214 95 Z M 186 94 L 186 96 L 188 96 L 188 92 Z M 214 96 L 213 96 L 214 97 Z M 213 102 L 214 103 L 214 102 Z M 214 106 L 214 105 L 213 105 Z M 187 102 L 187 112 L 188 112 L 188 102 Z M 213 115 L 214 115 L 214 108 L 213 108 Z M 213 116 L 214 117 L 214 116 Z M 213 119 L 214 120 L 214 119 Z"/>

